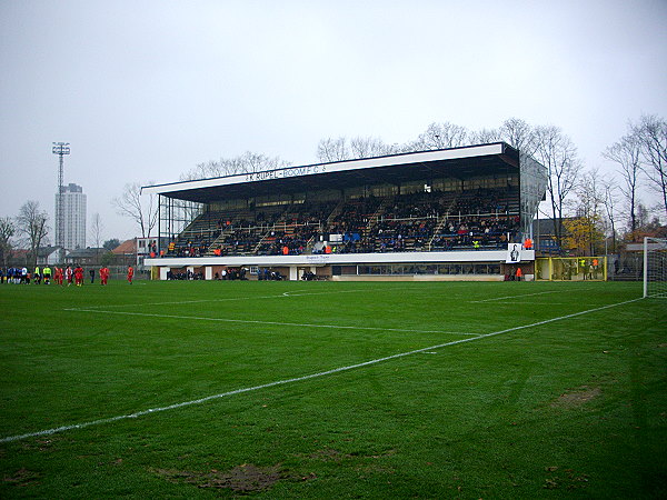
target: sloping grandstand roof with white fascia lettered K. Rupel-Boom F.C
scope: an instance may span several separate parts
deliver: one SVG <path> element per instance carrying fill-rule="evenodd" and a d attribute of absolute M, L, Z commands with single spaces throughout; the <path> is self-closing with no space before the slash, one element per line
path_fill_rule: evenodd
<path fill-rule="evenodd" d="M 225 199 L 345 189 L 381 182 L 400 184 L 439 178 L 518 172 L 519 152 L 505 142 L 288 167 L 238 176 L 148 186 L 142 192 L 209 203 Z"/>

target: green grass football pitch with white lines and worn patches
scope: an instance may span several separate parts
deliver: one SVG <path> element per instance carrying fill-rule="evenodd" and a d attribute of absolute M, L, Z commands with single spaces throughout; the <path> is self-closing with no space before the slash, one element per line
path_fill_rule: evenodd
<path fill-rule="evenodd" d="M 665 498 L 639 283 L 0 286 L 2 498 Z"/>

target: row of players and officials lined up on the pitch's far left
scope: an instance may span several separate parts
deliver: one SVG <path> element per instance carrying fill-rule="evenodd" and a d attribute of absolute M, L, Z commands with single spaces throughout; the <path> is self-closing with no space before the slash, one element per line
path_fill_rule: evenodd
<path fill-rule="evenodd" d="M 107 266 L 102 266 L 98 271 L 100 274 L 101 284 L 107 284 L 109 281 L 109 268 Z M 132 284 L 132 279 L 135 278 L 135 269 L 131 266 L 128 266 L 128 282 Z M 53 283 L 56 284 L 64 284 L 67 281 L 68 287 L 71 284 L 76 284 L 77 287 L 83 286 L 83 268 L 81 266 L 67 268 L 59 268 L 58 266 L 53 267 L 51 270 L 50 267 L 46 266 L 40 270 L 39 267 L 34 268 L 34 272 L 30 273 L 28 268 L 0 268 L 0 283 L 27 283 L 29 284 L 31 281 L 36 284 L 50 284 L 51 278 Z M 90 270 L 90 282 L 94 280 L 94 271 Z"/>

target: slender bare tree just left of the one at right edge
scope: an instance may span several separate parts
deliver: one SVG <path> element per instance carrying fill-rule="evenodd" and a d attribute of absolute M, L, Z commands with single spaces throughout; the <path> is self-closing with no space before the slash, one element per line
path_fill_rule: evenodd
<path fill-rule="evenodd" d="M 620 192 L 626 199 L 629 230 L 637 229 L 637 190 L 639 187 L 641 143 L 636 134 L 623 137 L 603 152 L 608 160 L 618 163 L 623 184 Z"/>

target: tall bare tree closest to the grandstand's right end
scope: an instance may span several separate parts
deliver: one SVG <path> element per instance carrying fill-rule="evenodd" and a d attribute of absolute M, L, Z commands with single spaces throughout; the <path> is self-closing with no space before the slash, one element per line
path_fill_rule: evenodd
<path fill-rule="evenodd" d="M 547 168 L 547 191 L 554 217 L 556 242 L 563 246 L 561 221 L 567 197 L 577 186 L 581 164 L 571 140 L 558 127 L 535 129 L 536 159 Z"/>

